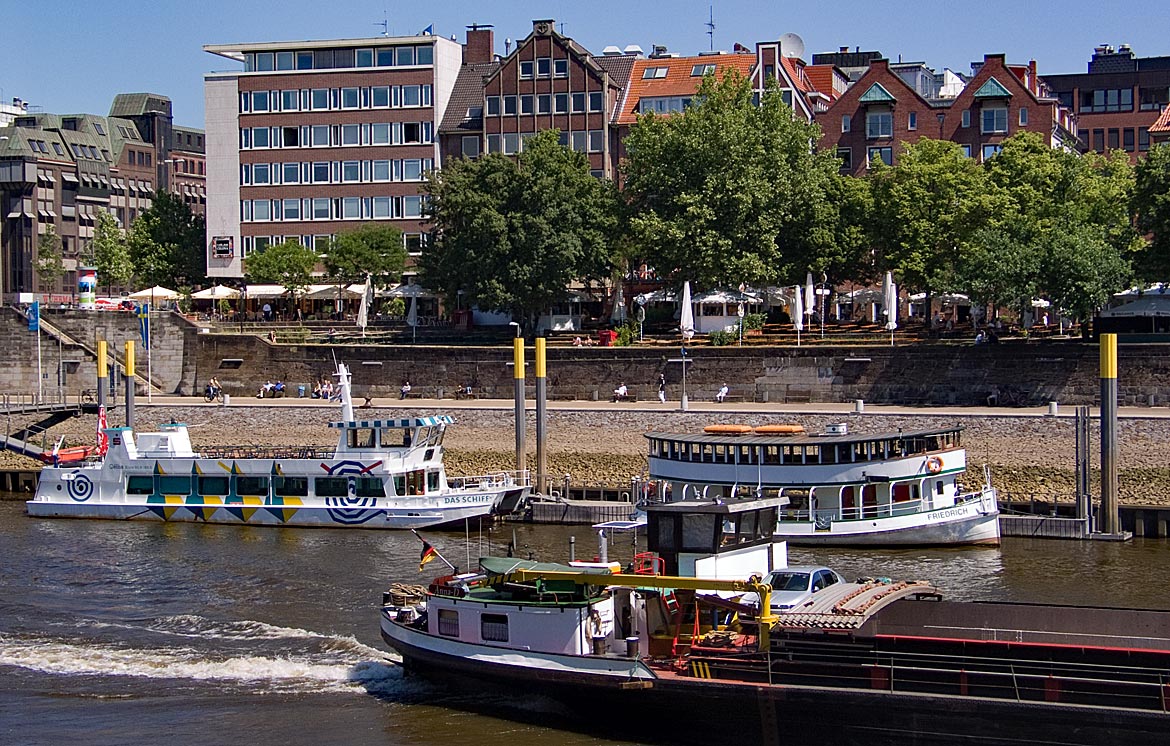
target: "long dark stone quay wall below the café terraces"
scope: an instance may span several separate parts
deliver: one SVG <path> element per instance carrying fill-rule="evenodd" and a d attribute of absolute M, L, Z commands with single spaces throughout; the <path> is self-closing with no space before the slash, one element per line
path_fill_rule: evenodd
<path fill-rule="evenodd" d="M 97 334 L 121 357 L 126 339 L 138 339 L 138 319 L 128 312 L 47 310 L 46 320 L 68 339 L 42 332 L 42 372 L 56 385 L 57 360 L 66 360 L 66 389 L 95 384 L 92 350 Z M 233 396 L 254 394 L 267 379 L 298 385 L 333 371 L 333 359 L 353 371 L 355 391 L 397 395 L 404 381 L 417 394 L 450 396 L 472 385 L 481 396 L 512 395 L 511 348 L 438 345 L 364 346 L 358 344 L 270 344 L 257 336 L 204 334 L 177 315 L 152 318 L 152 375 L 156 391 L 198 393 L 215 375 Z M 36 391 L 36 338 L 25 319 L 0 313 L 8 339 L 0 385 L 13 393 Z M 528 348 L 529 396 L 535 388 L 532 350 Z M 693 347 L 688 350 L 687 395 L 710 400 L 724 382 L 732 400 L 963 406 L 1094 403 L 1097 399 L 1097 347 L 1079 340 L 1019 341 L 998 345 L 914 344 L 907 346 Z M 607 399 L 625 382 L 640 399 L 658 395 L 659 374 L 667 396 L 682 394 L 682 366 L 675 345 L 563 347 L 549 350 L 549 395 L 556 399 Z M 138 355 L 146 374 L 145 355 Z M 1120 348 L 1122 405 L 1170 405 L 1170 355 L 1162 345 Z"/>

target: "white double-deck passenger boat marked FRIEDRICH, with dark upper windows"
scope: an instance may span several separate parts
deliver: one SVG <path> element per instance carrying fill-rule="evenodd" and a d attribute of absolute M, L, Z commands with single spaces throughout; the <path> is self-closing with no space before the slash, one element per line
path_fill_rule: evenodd
<path fill-rule="evenodd" d="M 964 491 L 962 428 L 851 435 L 845 424 L 647 433 L 652 499 L 782 497 L 790 544 L 999 544 L 990 474 Z"/>

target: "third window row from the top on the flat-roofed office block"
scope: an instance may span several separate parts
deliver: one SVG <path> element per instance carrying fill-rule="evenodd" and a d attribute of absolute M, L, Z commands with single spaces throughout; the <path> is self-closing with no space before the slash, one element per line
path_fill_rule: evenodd
<path fill-rule="evenodd" d="M 302 124 L 284 127 L 243 127 L 240 130 L 240 150 L 429 145 L 433 141 L 434 122 Z"/>

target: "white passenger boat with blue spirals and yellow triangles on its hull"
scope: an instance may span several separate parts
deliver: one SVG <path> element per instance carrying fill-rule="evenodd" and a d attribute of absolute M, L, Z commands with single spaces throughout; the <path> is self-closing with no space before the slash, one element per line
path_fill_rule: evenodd
<path fill-rule="evenodd" d="M 101 461 L 46 467 L 36 517 L 278 526 L 421 529 L 511 512 L 526 476 L 447 478 L 442 438 L 454 419 L 355 420 L 350 373 L 338 365 L 342 420 L 335 450 L 213 448 L 197 453 L 187 426 L 157 433 L 106 428 Z"/>

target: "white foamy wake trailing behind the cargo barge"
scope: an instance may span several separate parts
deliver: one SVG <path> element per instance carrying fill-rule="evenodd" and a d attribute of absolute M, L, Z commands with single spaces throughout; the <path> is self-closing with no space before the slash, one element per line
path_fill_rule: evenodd
<path fill-rule="evenodd" d="M 143 626 L 81 622 L 77 627 L 126 629 L 133 637 L 180 637 L 184 644 L 137 647 L 118 641 L 68 641 L 0 635 L 0 666 L 62 677 L 128 677 L 214 682 L 241 693 L 408 695 L 418 688 L 387 654 L 353 637 L 324 635 L 256 621 L 215 621 L 197 615 L 151 620 Z"/>

